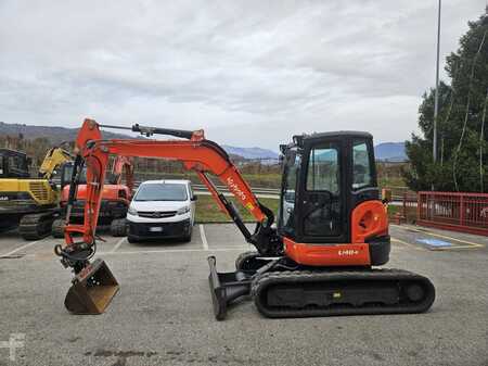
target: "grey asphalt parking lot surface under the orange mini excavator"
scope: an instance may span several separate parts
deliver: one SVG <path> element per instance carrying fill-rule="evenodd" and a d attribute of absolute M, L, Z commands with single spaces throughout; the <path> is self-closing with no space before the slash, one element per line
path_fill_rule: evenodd
<path fill-rule="evenodd" d="M 196 225 L 190 243 L 129 244 L 102 235 L 120 283 L 106 313 L 69 315 L 59 240 L 0 237 L 0 365 L 488 365 L 488 238 L 391 225 L 389 267 L 432 279 L 418 315 L 267 319 L 252 302 L 216 321 L 206 257 L 219 270 L 249 250 L 233 225 Z M 23 345 L 9 359 L 7 343 Z"/>

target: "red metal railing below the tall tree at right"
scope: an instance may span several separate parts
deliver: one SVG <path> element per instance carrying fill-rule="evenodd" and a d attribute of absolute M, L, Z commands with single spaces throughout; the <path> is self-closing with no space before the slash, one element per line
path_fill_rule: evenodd
<path fill-rule="evenodd" d="M 488 194 L 419 192 L 416 223 L 488 236 Z"/>

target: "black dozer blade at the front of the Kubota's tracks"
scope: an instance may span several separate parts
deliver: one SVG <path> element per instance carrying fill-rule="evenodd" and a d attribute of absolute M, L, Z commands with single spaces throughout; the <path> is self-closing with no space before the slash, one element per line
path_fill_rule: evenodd
<path fill-rule="evenodd" d="M 235 299 L 247 295 L 251 292 L 251 277 L 253 273 L 237 270 L 231 273 L 218 273 L 215 256 L 207 258 L 210 267 L 208 281 L 210 285 L 214 314 L 217 320 L 223 320 L 228 305 Z"/>

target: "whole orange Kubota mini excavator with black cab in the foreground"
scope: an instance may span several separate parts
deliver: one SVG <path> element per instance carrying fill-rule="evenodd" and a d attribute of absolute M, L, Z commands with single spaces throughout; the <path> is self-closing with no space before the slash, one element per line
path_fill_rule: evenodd
<path fill-rule="evenodd" d="M 104 140 L 101 127 L 182 139 Z M 185 168 L 196 172 L 246 241 L 256 247 L 237 257 L 232 273 L 218 273 L 216 258 L 208 257 L 217 319 L 226 317 L 230 303 L 249 295 L 267 317 L 421 313 L 434 302 L 435 289 L 427 278 L 407 270 L 373 268 L 388 262 L 390 239 L 370 134 L 300 135 L 281 146 L 283 176 L 277 225 L 271 210 L 259 202 L 226 151 L 206 140 L 202 130 L 103 126 L 86 119 L 76 143 L 68 205 L 86 166 L 85 220 L 74 225 L 67 217 L 66 244 L 55 248 L 61 262 L 75 273 L 65 299 L 72 313 L 100 314 L 118 290 L 107 265 L 100 258 L 91 261 L 111 154 L 183 162 Z M 217 191 L 209 173 L 255 217 L 254 232 L 233 203 Z M 75 234 L 81 235 L 78 241 Z"/>

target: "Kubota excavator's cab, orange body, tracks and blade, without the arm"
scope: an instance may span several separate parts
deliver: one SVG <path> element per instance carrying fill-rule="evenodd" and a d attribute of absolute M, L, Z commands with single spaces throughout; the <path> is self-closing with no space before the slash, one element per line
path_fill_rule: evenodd
<path fill-rule="evenodd" d="M 281 251 L 243 253 L 231 273 L 218 273 L 215 256 L 208 258 L 216 318 L 223 319 L 230 304 L 249 294 L 267 317 L 427 310 L 435 296 L 428 279 L 372 268 L 387 263 L 390 251 L 373 137 L 360 131 L 301 135 L 281 152 L 274 239 Z"/>

